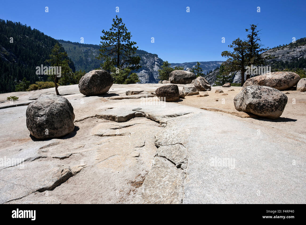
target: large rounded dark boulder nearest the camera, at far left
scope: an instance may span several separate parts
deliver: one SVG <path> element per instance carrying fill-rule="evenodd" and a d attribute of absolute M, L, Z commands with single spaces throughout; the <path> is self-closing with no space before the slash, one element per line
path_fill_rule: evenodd
<path fill-rule="evenodd" d="M 62 137 L 74 129 L 74 113 L 70 102 L 62 96 L 42 96 L 29 104 L 27 128 L 40 139 Z"/>

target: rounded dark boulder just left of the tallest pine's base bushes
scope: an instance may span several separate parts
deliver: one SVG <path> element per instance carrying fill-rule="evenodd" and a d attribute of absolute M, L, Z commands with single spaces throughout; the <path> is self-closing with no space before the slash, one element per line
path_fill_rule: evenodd
<path fill-rule="evenodd" d="M 96 69 L 86 73 L 79 81 L 79 89 L 83 95 L 102 95 L 108 92 L 114 84 L 110 73 L 106 70 Z"/>

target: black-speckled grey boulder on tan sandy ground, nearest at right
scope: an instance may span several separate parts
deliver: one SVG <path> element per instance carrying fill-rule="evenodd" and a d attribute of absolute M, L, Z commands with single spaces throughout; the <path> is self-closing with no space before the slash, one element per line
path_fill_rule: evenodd
<path fill-rule="evenodd" d="M 237 111 L 269 119 L 279 118 L 287 104 L 287 96 L 275 88 L 247 86 L 234 98 Z"/>

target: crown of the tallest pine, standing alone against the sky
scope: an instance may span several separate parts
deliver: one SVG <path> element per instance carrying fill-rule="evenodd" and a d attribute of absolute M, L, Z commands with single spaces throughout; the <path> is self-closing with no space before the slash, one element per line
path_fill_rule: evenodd
<path fill-rule="evenodd" d="M 99 60 L 104 60 L 101 67 L 105 70 L 110 70 L 112 67 L 119 69 L 129 68 L 131 70 L 139 69 L 140 57 L 135 56 L 138 47 L 134 45 L 136 42 L 130 41 L 131 32 L 127 32 L 125 24 L 122 19 L 113 19 L 110 31 L 102 30 L 100 54 L 97 57 Z"/>

